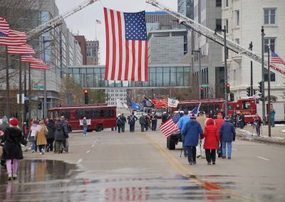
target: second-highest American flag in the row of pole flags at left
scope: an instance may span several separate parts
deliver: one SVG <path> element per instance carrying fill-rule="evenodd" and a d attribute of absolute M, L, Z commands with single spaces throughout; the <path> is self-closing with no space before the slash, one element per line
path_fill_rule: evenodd
<path fill-rule="evenodd" d="M 8 36 L 0 37 L 2 46 L 21 46 L 26 44 L 26 33 L 21 31 L 9 30 Z"/>

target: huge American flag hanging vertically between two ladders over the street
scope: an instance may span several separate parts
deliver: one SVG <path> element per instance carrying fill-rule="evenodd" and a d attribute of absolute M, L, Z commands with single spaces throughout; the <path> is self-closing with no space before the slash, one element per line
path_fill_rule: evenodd
<path fill-rule="evenodd" d="M 104 8 L 105 80 L 147 81 L 145 11 L 124 13 Z"/>

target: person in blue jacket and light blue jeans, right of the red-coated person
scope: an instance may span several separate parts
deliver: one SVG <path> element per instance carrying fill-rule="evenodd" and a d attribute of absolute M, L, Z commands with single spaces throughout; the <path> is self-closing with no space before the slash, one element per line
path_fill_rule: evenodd
<path fill-rule="evenodd" d="M 224 117 L 225 122 L 219 128 L 219 138 L 222 142 L 222 159 L 232 158 L 232 141 L 236 139 L 234 124 L 229 121 L 229 117 Z M 227 147 L 227 152 L 226 152 Z"/>

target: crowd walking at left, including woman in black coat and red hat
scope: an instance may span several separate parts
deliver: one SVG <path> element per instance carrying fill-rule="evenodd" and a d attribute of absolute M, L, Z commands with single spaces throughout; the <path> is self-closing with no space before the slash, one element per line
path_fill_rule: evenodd
<path fill-rule="evenodd" d="M 2 117 L 0 124 L 1 143 L 1 166 L 6 168 L 8 180 L 16 179 L 18 171 L 18 161 L 23 159 L 23 149 L 21 144 L 26 145 L 31 138 L 31 151 L 44 154 L 53 151 L 62 153 L 66 149 L 66 139 L 68 139 L 69 124 L 64 116 L 54 122 L 53 119 L 32 119 L 30 127 L 23 124 L 19 127 L 19 120 Z M 53 147 L 56 142 L 56 148 Z"/>

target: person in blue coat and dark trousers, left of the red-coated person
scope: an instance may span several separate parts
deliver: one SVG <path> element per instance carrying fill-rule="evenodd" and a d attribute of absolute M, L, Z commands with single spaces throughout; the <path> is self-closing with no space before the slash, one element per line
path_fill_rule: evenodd
<path fill-rule="evenodd" d="M 194 114 L 191 115 L 190 121 L 182 128 L 182 134 L 185 134 L 184 145 L 187 147 L 188 162 L 190 165 L 196 164 L 196 147 L 199 141 L 199 135 L 203 135 L 203 129 L 199 122 L 196 121 Z"/>

